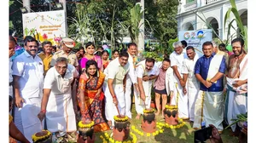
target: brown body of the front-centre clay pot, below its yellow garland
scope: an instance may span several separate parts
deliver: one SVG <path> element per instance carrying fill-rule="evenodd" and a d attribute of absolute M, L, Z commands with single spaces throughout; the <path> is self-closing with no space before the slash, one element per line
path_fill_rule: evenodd
<path fill-rule="evenodd" d="M 118 141 L 127 140 L 130 134 L 130 122 L 117 122 L 114 121 L 113 139 Z"/>

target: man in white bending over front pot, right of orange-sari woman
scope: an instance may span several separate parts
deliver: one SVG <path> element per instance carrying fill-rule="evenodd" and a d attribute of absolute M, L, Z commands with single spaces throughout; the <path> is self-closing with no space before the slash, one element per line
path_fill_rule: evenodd
<path fill-rule="evenodd" d="M 128 63 L 129 54 L 121 52 L 119 58 L 112 60 L 104 70 L 105 87 L 104 94 L 105 115 L 108 120 L 108 125 L 113 129 L 113 117 L 115 115 L 125 115 L 125 76 L 129 72 Z M 118 109 L 117 109 L 118 107 Z M 118 112 L 119 110 L 119 112 Z"/>

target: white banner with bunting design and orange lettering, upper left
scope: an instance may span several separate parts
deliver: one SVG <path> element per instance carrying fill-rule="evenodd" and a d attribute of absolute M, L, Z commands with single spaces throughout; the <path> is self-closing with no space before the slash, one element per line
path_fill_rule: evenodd
<path fill-rule="evenodd" d="M 35 37 L 40 43 L 45 40 L 59 45 L 61 37 L 66 37 L 64 10 L 22 14 L 23 35 Z"/>

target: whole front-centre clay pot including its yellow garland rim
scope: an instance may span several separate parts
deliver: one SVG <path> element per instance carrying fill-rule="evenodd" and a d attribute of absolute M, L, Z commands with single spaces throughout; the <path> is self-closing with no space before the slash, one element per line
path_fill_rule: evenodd
<path fill-rule="evenodd" d="M 113 127 L 113 139 L 123 141 L 128 139 L 130 134 L 130 122 L 127 116 L 115 116 Z"/>

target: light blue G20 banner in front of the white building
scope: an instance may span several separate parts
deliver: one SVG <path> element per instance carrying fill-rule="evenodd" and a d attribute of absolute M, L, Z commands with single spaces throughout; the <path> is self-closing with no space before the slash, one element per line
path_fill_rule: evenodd
<path fill-rule="evenodd" d="M 202 44 L 207 41 L 212 42 L 212 29 L 178 31 L 178 40 L 185 40 L 188 43 L 188 46 L 194 47 L 195 52 L 201 56 L 203 55 Z"/>

